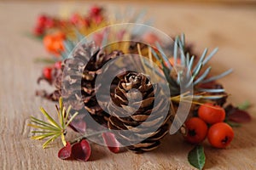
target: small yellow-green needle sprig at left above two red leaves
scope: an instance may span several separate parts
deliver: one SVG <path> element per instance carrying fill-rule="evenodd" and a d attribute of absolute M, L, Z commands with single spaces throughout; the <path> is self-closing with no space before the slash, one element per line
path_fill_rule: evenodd
<path fill-rule="evenodd" d="M 59 123 L 57 123 L 52 116 L 49 116 L 49 113 L 44 110 L 43 107 L 40 108 L 42 114 L 47 118 L 48 122 L 44 122 L 43 120 L 39 120 L 38 118 L 31 116 L 31 122 L 28 124 L 30 127 L 34 127 L 37 130 L 32 131 L 32 133 L 36 133 L 35 136 L 32 136 L 32 139 L 41 140 L 47 139 L 46 142 L 43 144 L 43 148 L 46 148 L 50 142 L 54 141 L 55 139 L 61 137 L 62 144 L 66 146 L 67 142 L 65 139 L 65 135 L 67 133 L 67 126 L 70 122 L 73 121 L 73 118 L 77 116 L 79 113 L 76 112 L 69 118 L 69 112 L 71 110 L 71 106 L 66 108 L 63 106 L 62 98 L 59 99 L 59 107 L 57 105 L 57 115 L 59 119 Z"/>

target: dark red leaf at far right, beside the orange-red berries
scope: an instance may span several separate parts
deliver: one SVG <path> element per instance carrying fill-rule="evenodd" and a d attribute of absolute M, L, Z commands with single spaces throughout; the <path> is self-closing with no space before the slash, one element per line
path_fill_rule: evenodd
<path fill-rule="evenodd" d="M 247 113 L 247 111 L 241 111 L 239 109 L 236 109 L 235 111 L 232 111 L 232 113 L 229 116 L 229 120 L 232 122 L 251 122 L 252 117 Z"/>

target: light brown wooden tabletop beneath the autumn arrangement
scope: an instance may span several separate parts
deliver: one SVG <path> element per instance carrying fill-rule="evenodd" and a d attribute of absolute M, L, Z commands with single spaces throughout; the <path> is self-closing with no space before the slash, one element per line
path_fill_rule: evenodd
<path fill-rule="evenodd" d="M 88 162 L 61 161 L 61 145 L 43 150 L 42 142 L 29 139 L 29 116 L 40 116 L 39 106 L 49 112 L 54 104 L 35 96 L 36 80 L 43 65 L 34 59 L 47 56 L 40 42 L 26 37 L 38 14 L 60 14 L 91 3 L 0 3 L 0 169 L 193 169 L 187 161 L 191 145 L 179 135 L 168 136 L 159 149 L 143 155 L 131 152 L 112 154 L 93 144 Z M 220 6 L 179 3 L 102 3 L 113 8 L 147 8 L 154 26 L 170 35 L 185 32 L 195 43 L 195 51 L 205 47 L 219 52 L 212 59 L 213 72 L 234 68 L 220 82 L 231 94 L 230 102 L 239 104 L 256 99 L 256 6 Z M 253 122 L 235 129 L 236 138 L 225 150 L 206 145 L 206 169 L 256 168 L 256 107 L 249 110 Z M 67 139 L 70 136 L 67 136 Z"/>

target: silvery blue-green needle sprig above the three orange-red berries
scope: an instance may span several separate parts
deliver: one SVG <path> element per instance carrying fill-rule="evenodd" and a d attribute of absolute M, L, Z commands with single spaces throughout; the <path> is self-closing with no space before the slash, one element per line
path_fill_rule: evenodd
<path fill-rule="evenodd" d="M 164 52 L 164 49 L 161 48 L 160 43 L 156 42 L 156 47 L 159 50 L 159 53 L 156 52 L 153 48 L 150 48 L 150 51 L 152 52 L 152 56 L 158 63 L 160 63 L 161 71 L 154 68 L 154 71 L 158 73 L 158 75 L 161 75 L 164 73 L 164 78 L 169 82 L 171 94 L 176 96 L 180 93 L 180 86 L 183 85 L 184 88 L 193 87 L 195 91 L 197 92 L 203 92 L 205 94 L 210 95 L 198 95 L 195 96 L 194 99 L 220 99 L 223 98 L 223 95 L 219 95 L 218 93 L 224 93 L 224 89 L 218 89 L 218 88 L 198 88 L 197 85 L 204 84 L 207 82 L 213 82 L 215 80 L 218 80 L 222 77 L 225 77 L 229 75 L 232 72 L 232 69 L 228 71 L 224 71 L 222 74 L 214 77 L 209 77 L 210 71 L 212 70 L 212 67 L 209 66 L 207 69 L 203 69 L 204 66 L 207 65 L 208 61 L 212 59 L 214 54 L 217 53 L 218 48 L 215 48 L 212 53 L 207 55 L 208 49 L 206 48 L 204 52 L 201 54 L 200 59 L 195 62 L 195 56 L 190 56 L 189 53 L 185 53 L 185 42 L 184 42 L 184 34 L 182 34 L 180 37 L 177 36 L 175 38 L 174 42 L 174 48 L 173 48 L 173 56 L 167 56 Z M 172 64 L 170 62 L 170 59 L 173 57 L 174 63 Z M 152 60 L 152 59 L 151 59 Z M 178 60 L 180 60 L 180 63 L 178 63 Z M 152 69 L 152 65 L 148 65 L 147 61 L 144 61 L 143 63 L 148 68 Z M 205 70 L 205 71 L 204 71 Z M 172 71 L 177 72 L 177 78 L 170 77 L 170 74 Z"/>

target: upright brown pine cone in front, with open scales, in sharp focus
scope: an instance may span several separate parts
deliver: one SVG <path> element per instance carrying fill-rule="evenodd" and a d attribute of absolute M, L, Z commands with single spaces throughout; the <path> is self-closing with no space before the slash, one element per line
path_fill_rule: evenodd
<path fill-rule="evenodd" d="M 142 73 L 126 71 L 113 80 L 111 97 L 108 127 L 119 130 L 119 142 L 136 153 L 158 147 L 160 139 L 168 133 L 171 114 L 169 106 L 166 107 L 168 99 L 160 94 L 157 84 Z M 155 130 L 151 132 L 152 129 Z M 137 139 L 142 140 L 134 143 Z"/>

